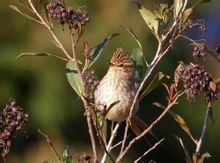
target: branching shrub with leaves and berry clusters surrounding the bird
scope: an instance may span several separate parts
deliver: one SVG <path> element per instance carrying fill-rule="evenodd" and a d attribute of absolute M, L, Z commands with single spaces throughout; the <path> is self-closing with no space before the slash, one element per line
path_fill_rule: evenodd
<path fill-rule="evenodd" d="M 62 55 L 54 55 L 48 52 L 33 53 L 25 52 L 20 54 L 18 57 L 23 56 L 53 56 L 60 60 L 66 62 L 66 76 L 69 81 L 69 84 L 81 99 L 84 105 L 88 133 L 90 135 L 91 146 L 93 154 L 88 156 L 85 154 L 83 161 L 94 161 L 94 162 L 106 162 L 109 158 L 112 162 L 121 162 L 124 157 L 128 155 L 128 151 L 137 143 L 138 140 L 145 138 L 145 136 L 151 133 L 151 130 L 155 125 L 158 125 L 158 122 L 169 113 L 171 117 L 177 122 L 177 124 L 182 128 L 182 130 L 189 135 L 193 140 L 194 145 L 196 146 L 196 151 L 192 154 L 189 154 L 187 147 L 184 145 L 182 139 L 177 137 L 181 146 L 184 149 L 186 158 L 188 162 L 198 162 L 203 161 L 204 158 L 208 157 L 207 153 L 201 153 L 201 145 L 204 139 L 204 135 L 207 132 L 207 119 L 212 118 L 212 104 L 217 99 L 218 93 L 218 81 L 212 78 L 205 70 L 195 64 L 183 64 L 182 62 L 177 66 L 177 69 L 174 70 L 173 80 L 171 75 L 165 75 L 163 72 L 157 72 L 153 79 L 150 78 L 155 68 L 159 65 L 160 61 L 164 58 L 165 55 L 173 48 L 174 43 L 180 39 L 186 39 L 189 41 L 190 46 L 194 47 L 193 57 L 196 61 L 200 58 L 205 58 L 205 41 L 202 40 L 193 40 L 192 38 L 185 35 L 187 30 L 191 30 L 193 27 L 199 27 L 201 34 L 205 32 L 205 21 L 203 20 L 192 20 L 192 14 L 196 6 L 201 3 L 206 3 L 209 1 L 200 0 L 192 6 L 188 6 L 187 0 L 174 0 L 173 5 L 169 6 L 168 4 L 159 4 L 156 10 L 149 10 L 145 8 L 142 4 L 135 2 L 140 12 L 140 15 L 144 19 L 146 26 L 150 29 L 151 33 L 157 40 L 157 50 L 154 54 L 153 59 L 149 62 L 145 58 L 145 53 L 143 50 L 143 45 L 138 39 L 137 35 L 133 32 L 132 29 L 124 27 L 124 29 L 132 36 L 132 38 L 137 43 L 138 47 L 134 48 L 132 51 L 131 57 L 136 64 L 136 75 L 135 81 L 137 86 L 137 92 L 133 100 L 133 104 L 130 108 L 130 114 L 126 121 L 123 138 L 118 142 L 114 142 L 116 134 L 119 130 L 119 123 L 113 125 L 111 133 L 106 133 L 103 131 L 103 121 L 105 120 L 105 113 L 100 113 L 96 110 L 96 106 L 93 101 L 93 92 L 94 89 L 87 89 L 97 85 L 96 78 L 92 77 L 93 73 L 91 72 L 91 67 L 94 64 L 98 64 L 99 57 L 103 56 L 103 50 L 109 41 L 117 36 L 118 34 L 112 34 L 105 37 L 100 41 L 94 48 L 89 47 L 87 41 L 84 42 L 83 51 L 83 60 L 79 60 L 78 55 L 76 54 L 76 49 L 78 48 L 78 43 L 81 41 L 81 37 L 86 30 L 86 26 L 90 21 L 90 18 L 86 11 L 78 8 L 76 10 L 71 7 L 66 6 L 64 1 L 39 1 L 33 2 L 28 0 L 28 2 L 19 1 L 17 6 L 10 5 L 10 8 L 25 16 L 26 18 L 33 20 L 34 22 L 39 23 L 40 25 L 46 27 L 48 32 L 53 37 L 56 47 L 60 49 Z M 54 23 L 59 23 L 62 28 L 67 26 L 69 35 L 67 37 L 71 40 L 71 51 L 68 51 L 65 45 L 60 41 L 56 35 L 56 29 L 54 28 Z M 201 73 L 202 71 L 202 73 Z M 90 75 L 89 77 L 87 75 Z M 166 79 L 166 80 L 165 80 Z M 92 80 L 92 81 L 88 81 Z M 183 88 L 180 88 L 179 82 L 183 83 Z M 95 84 L 94 84 L 95 83 Z M 170 84 L 171 83 L 171 84 Z M 161 104 L 160 102 L 155 102 L 154 105 L 162 108 L 162 112 L 159 116 L 155 117 L 155 120 L 150 123 L 150 125 L 139 134 L 136 135 L 132 140 L 127 140 L 128 137 L 128 128 L 129 121 L 131 120 L 132 110 L 135 103 L 138 100 L 147 98 L 149 93 L 158 88 L 161 84 L 164 85 L 167 91 L 167 103 Z M 206 110 L 207 114 L 205 116 L 205 121 L 203 124 L 203 130 L 199 141 L 197 141 L 192 135 L 188 125 L 184 118 L 175 113 L 172 109 L 174 105 L 178 104 L 179 98 L 186 94 L 188 100 L 194 99 L 200 92 L 204 92 L 206 95 Z M 192 96 L 192 97 L 191 97 Z M 117 105 L 113 103 L 112 105 Z M 112 106 L 111 106 L 112 107 Z M 109 109 L 109 108 L 107 108 Z M 101 121 L 100 121 L 101 116 Z M 44 135 L 45 136 L 45 135 Z M 99 145 L 102 149 L 102 157 L 98 155 L 98 139 Z M 109 139 L 107 139 L 109 138 Z M 164 138 L 160 139 L 154 145 L 147 149 L 142 155 L 138 156 L 135 162 L 144 159 L 144 157 L 158 145 L 161 145 Z M 115 144 L 114 144 L 115 143 Z M 51 147 L 52 144 L 49 143 Z M 112 151 L 115 148 L 120 148 L 119 152 L 113 155 Z M 54 148 L 53 151 L 55 152 Z M 56 153 L 56 152 L 55 152 Z M 57 156 L 57 155 L 56 155 Z M 58 162 L 72 162 L 72 156 L 69 154 L 68 150 L 64 151 L 63 160 L 57 156 Z M 81 161 L 82 161 L 81 160 Z M 50 161 L 48 161 L 50 162 Z"/>

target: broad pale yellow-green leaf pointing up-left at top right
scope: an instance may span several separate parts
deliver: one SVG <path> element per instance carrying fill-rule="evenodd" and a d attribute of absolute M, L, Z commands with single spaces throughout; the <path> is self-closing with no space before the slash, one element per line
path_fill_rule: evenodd
<path fill-rule="evenodd" d="M 150 28 L 152 33 L 156 36 L 158 39 L 158 28 L 159 28 L 159 20 L 157 16 L 151 12 L 150 10 L 144 8 L 140 3 L 135 2 L 138 6 L 139 12 L 141 16 L 143 17 L 145 23 Z"/>

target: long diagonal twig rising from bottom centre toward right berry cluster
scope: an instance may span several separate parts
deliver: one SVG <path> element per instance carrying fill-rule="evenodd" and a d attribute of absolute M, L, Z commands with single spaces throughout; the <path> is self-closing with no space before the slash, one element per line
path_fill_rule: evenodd
<path fill-rule="evenodd" d="M 155 121 L 153 121 L 151 123 L 151 125 L 144 130 L 140 135 L 136 136 L 134 139 L 132 139 L 128 146 L 125 148 L 125 150 L 118 156 L 116 162 L 120 162 L 122 160 L 122 158 L 126 155 L 126 153 L 128 152 L 128 150 L 133 146 L 134 143 L 136 143 L 136 141 L 138 141 L 139 139 L 141 139 L 142 137 L 144 137 L 149 131 L 152 130 L 152 128 L 166 115 L 166 113 L 172 108 L 173 105 L 177 104 L 177 100 L 179 99 L 179 97 L 181 97 L 186 91 L 183 91 L 181 93 L 178 93 L 178 95 L 176 96 L 176 98 L 166 107 L 166 109 L 160 114 L 159 117 L 157 117 L 157 119 Z"/>

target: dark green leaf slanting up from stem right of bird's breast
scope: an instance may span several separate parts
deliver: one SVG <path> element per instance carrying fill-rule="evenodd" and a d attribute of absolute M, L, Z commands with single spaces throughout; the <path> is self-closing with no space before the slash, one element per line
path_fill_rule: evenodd
<path fill-rule="evenodd" d="M 143 99 L 146 95 L 148 95 L 151 91 L 153 91 L 155 88 L 157 88 L 158 86 L 160 86 L 164 80 L 167 77 L 166 75 L 164 75 L 162 72 L 158 72 L 153 80 L 150 82 L 150 84 L 145 88 L 145 90 L 143 91 L 143 93 L 140 96 L 140 99 Z"/>

